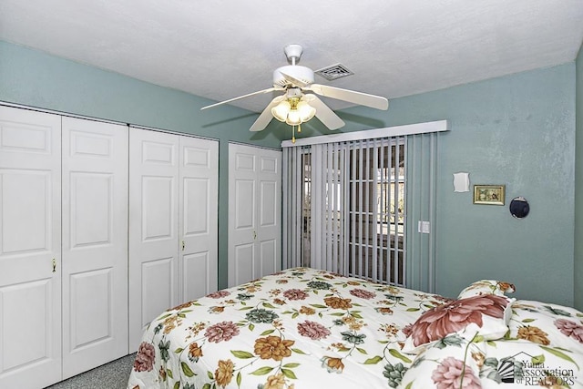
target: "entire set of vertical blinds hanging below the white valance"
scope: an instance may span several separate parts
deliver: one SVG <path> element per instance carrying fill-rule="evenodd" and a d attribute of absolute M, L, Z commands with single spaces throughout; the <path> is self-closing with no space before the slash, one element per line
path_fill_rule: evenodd
<path fill-rule="evenodd" d="M 283 148 L 283 266 L 432 292 L 437 134 Z M 433 231 L 432 231 L 433 232 Z"/>

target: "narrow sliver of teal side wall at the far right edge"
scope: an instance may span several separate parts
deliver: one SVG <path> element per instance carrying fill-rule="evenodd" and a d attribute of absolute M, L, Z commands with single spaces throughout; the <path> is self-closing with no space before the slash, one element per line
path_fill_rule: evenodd
<path fill-rule="evenodd" d="M 583 46 L 577 61 L 577 160 L 575 166 L 575 307 L 583 311 Z"/>

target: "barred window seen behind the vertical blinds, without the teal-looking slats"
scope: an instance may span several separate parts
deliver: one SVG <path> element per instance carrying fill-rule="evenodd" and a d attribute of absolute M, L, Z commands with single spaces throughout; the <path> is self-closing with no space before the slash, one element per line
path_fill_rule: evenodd
<path fill-rule="evenodd" d="M 292 182 L 302 192 L 286 192 L 301 204 L 292 218 L 302 239 L 294 240 L 300 250 L 288 257 L 290 265 L 403 284 L 404 137 L 291 151 Z"/>

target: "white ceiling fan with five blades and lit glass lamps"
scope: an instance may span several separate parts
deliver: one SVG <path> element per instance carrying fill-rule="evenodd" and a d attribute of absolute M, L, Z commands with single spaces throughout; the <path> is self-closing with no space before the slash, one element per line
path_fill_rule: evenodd
<path fill-rule="evenodd" d="M 233 97 L 200 109 L 217 107 L 240 98 L 274 91 L 284 92 L 281 96 L 271 100 L 270 104 L 263 109 L 259 118 L 255 120 L 255 123 L 250 128 L 251 131 L 261 131 L 267 127 L 272 118 L 286 122 L 291 126 L 300 126 L 303 122 L 315 116 L 327 128 L 337 129 L 343 127 L 343 119 L 339 118 L 330 107 L 326 106 L 317 95 L 377 109 L 387 109 L 389 107 L 389 101 L 385 97 L 314 84 L 312 69 L 296 65 L 302 56 L 302 46 L 288 45 L 284 47 L 283 51 L 292 65 L 278 67 L 273 71 L 273 87 L 252 92 L 248 95 Z"/>

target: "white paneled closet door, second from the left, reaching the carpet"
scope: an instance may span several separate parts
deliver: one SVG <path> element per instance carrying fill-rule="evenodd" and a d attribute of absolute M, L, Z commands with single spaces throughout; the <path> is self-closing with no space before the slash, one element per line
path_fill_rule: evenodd
<path fill-rule="evenodd" d="M 128 354 L 128 127 L 62 126 L 65 379 Z"/>

